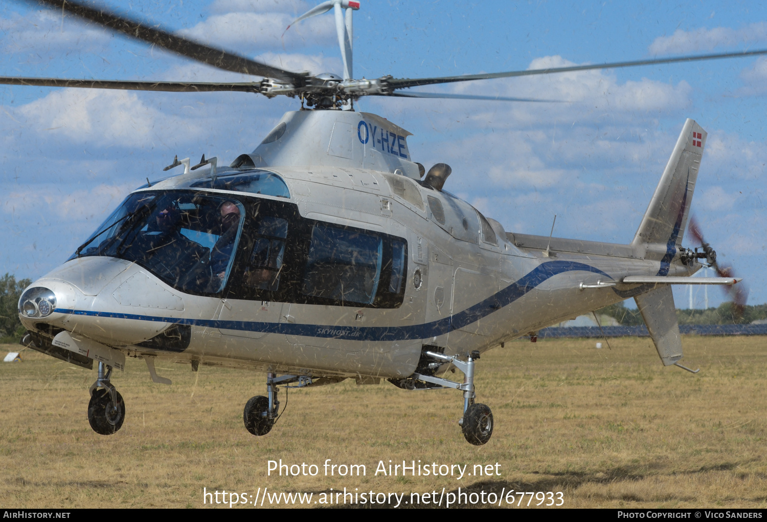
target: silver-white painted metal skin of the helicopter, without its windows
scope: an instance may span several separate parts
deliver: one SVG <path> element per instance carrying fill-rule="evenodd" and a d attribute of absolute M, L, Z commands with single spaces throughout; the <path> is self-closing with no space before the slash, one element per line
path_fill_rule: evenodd
<path fill-rule="evenodd" d="M 289 199 L 192 187 L 210 177 L 209 170 L 137 190 L 287 202 L 298 206 L 302 218 L 402 238 L 407 280 L 400 306 L 231 299 L 225 290 L 199 296 L 169 286 L 140 264 L 84 256 L 30 286 L 54 292 L 55 310 L 32 319 L 20 303 L 21 322 L 40 335 L 62 329 L 72 339 L 133 357 L 313 377 L 405 378 L 415 371 L 423 345 L 443 347 L 446 355 L 484 352 L 628 296 L 642 296 L 637 302 L 652 321 L 653 306 L 663 307 L 660 315 L 668 306 L 673 310 L 669 287 L 622 278 L 690 276 L 700 269 L 695 260 L 681 263 L 679 255 L 706 140 L 694 121 L 686 122 L 630 245 L 553 238 L 549 246 L 548 237 L 506 233 L 494 220 L 483 223 L 469 203 L 416 181 L 409 134 L 374 114 L 289 112 L 240 167 L 278 174 Z M 239 276 L 230 274 L 229 282 Z M 176 323 L 191 325 L 183 351 L 137 345 Z M 673 364 L 681 358 L 676 322 L 657 328 L 663 330 L 653 335 L 658 352 L 664 364 Z"/>

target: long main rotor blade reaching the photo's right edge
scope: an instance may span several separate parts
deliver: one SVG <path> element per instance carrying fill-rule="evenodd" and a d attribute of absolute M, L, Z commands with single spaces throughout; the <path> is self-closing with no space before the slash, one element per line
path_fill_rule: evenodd
<path fill-rule="evenodd" d="M 683 61 L 718 60 L 719 58 L 746 58 L 748 56 L 767 55 L 767 49 L 758 51 L 736 51 L 714 55 L 674 56 L 670 58 L 653 58 L 650 60 L 616 61 L 609 64 L 571 65 L 569 67 L 552 67 L 548 69 L 528 69 L 526 71 L 495 72 L 489 74 L 463 74 L 461 76 L 445 76 L 442 78 L 393 78 L 387 80 L 387 85 L 395 89 L 417 87 L 419 85 L 449 84 L 455 81 L 489 80 L 492 78 L 511 78 L 513 76 L 532 76 L 534 74 L 556 74 L 572 71 L 590 71 L 593 69 L 616 69 L 623 67 L 639 67 L 640 65 L 674 64 Z"/>

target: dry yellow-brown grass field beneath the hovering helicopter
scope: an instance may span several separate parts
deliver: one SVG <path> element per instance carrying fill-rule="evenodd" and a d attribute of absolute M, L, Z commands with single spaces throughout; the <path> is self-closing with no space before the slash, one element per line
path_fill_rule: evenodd
<path fill-rule="evenodd" d="M 683 362 L 697 375 L 663 368 L 649 339 L 594 345 L 542 339 L 483 355 L 478 401 L 492 408 L 495 432 L 482 447 L 460 433 L 457 391 L 353 381 L 292 390 L 272 432 L 255 438 L 242 407 L 264 395 L 264 375 L 158 363 L 173 385 L 157 385 L 134 359 L 113 379 L 127 419 L 104 437 L 86 417 L 95 372 L 26 350 L 23 362 L 0 364 L 0 498 L 4 507 L 203 507 L 203 487 L 314 499 L 331 487 L 468 487 L 561 491 L 565 507 L 767 507 L 767 338 L 686 337 Z M 0 345 L 2 355 L 15 349 Z M 279 459 L 319 473 L 267 476 L 267 461 Z M 365 464 L 367 474 L 325 477 L 325 459 Z M 500 476 L 374 476 L 389 460 L 467 472 L 497 462 Z"/>

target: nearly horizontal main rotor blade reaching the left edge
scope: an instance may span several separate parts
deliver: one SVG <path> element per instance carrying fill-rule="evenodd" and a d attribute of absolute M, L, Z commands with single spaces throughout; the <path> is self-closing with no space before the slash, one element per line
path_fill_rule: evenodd
<path fill-rule="evenodd" d="M 77 80 L 70 78 L 15 78 L 0 76 L 0 84 L 168 92 L 241 91 L 257 93 L 261 90 L 261 84 L 258 81 L 227 84 L 199 81 Z"/>

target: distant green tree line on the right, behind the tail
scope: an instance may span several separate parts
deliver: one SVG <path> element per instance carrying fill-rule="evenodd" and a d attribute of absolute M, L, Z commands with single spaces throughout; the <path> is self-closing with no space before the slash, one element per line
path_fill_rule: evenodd
<path fill-rule="evenodd" d="M 614 317 L 624 326 L 644 325 L 638 309 L 626 308 L 623 302 L 605 306 L 597 314 Z M 723 302 L 716 308 L 676 309 L 676 320 L 680 325 L 733 325 L 748 324 L 757 319 L 767 319 L 767 304 L 746 305 L 742 315 L 732 306 L 732 302 Z"/>

